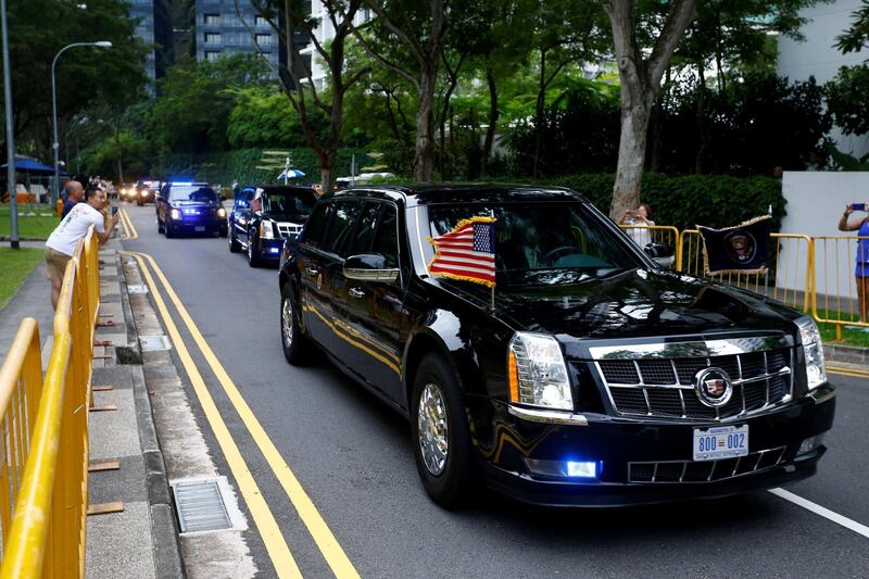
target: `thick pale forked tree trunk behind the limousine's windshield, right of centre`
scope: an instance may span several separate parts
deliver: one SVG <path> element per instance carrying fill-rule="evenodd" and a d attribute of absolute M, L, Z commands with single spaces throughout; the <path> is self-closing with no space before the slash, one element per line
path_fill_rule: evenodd
<path fill-rule="evenodd" d="M 620 219 L 640 203 L 646 133 L 660 79 L 676 46 L 696 14 L 695 0 L 673 0 L 647 58 L 638 42 L 633 0 L 608 0 L 605 7 L 613 28 L 621 81 L 621 136 L 609 216 Z"/>

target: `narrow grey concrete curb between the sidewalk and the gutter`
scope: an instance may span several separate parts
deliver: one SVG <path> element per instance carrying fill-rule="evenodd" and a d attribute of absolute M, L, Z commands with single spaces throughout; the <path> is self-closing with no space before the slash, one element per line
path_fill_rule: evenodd
<path fill-rule="evenodd" d="M 117 262 L 118 277 L 126 288 L 126 275 L 124 274 L 119 253 L 116 254 L 115 260 Z M 144 458 L 146 487 L 148 488 L 148 503 L 151 511 L 151 540 L 154 546 L 154 568 L 158 578 L 186 577 L 175 506 L 169 492 L 168 477 L 166 476 L 166 464 L 163 461 L 163 452 L 160 450 L 151 400 L 148 398 L 144 373 L 141 368 L 142 358 L 139 350 L 136 322 L 133 317 L 133 309 L 130 307 L 126 289 L 121 292 L 121 295 L 124 322 L 127 326 L 127 341 L 131 345 L 116 349 L 116 356 L 118 364 L 139 366 L 138 372 L 134 370 L 133 373 L 133 398 L 136 403 L 136 423 Z"/>

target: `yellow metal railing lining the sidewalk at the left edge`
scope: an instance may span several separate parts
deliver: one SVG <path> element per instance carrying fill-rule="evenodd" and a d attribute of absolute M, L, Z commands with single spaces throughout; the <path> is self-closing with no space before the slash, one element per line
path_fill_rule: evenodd
<path fill-rule="evenodd" d="M 24 473 L 16 473 L 13 477 L 20 480 L 15 487 L 16 496 L 4 503 L 14 504 L 15 508 L 9 530 L 3 527 L 2 579 L 84 577 L 88 504 L 87 410 L 93 330 L 100 300 L 98 251 L 97 236 L 91 229 L 66 266 L 54 314 L 54 345 L 41 395 L 38 388 L 32 398 L 24 394 L 27 402 L 33 399 L 36 415 L 25 420 L 29 441 L 22 433 L 25 441 L 16 446 L 29 451 L 23 457 L 16 450 L 17 465 L 26 457 Z M 41 365 L 38 332 L 34 329 L 28 333 L 26 323 L 22 325 L 0 372 L 0 392 L 20 388 L 23 379 L 34 381 L 35 373 L 38 374 L 34 369 L 38 367 L 35 364 Z M 36 345 L 33 345 L 34 339 Z M 22 354 L 20 350 L 25 347 L 26 353 Z M 7 388 L 8 383 L 12 386 Z M 9 400 L 13 401 L 12 405 Z M 15 424 L 21 424 L 20 418 L 13 417 L 17 416 L 15 400 L 20 398 L 10 397 L 0 407 L 7 429 L 16 419 L 18 423 Z M 23 429 L 22 426 L 16 428 Z M 7 448 L 7 457 L 10 448 Z"/>

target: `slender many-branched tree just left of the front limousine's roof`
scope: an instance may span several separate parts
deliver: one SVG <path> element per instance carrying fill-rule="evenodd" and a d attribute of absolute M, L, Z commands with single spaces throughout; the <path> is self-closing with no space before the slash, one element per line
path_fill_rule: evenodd
<path fill-rule="evenodd" d="M 307 14 L 311 2 L 301 0 L 251 0 L 251 5 L 263 16 L 287 47 L 288 62 L 281 63 L 278 79 L 284 93 L 289 99 L 299 117 L 299 125 L 308 146 L 319 160 L 320 186 L 324 191 L 335 189 L 336 163 L 338 148 L 343 138 L 344 96 L 365 73 L 365 68 L 345 75 L 344 54 L 347 41 L 353 30 L 353 21 L 362 5 L 362 0 L 322 0 L 328 25 L 335 36 L 328 46 L 324 46 L 315 34 L 317 26 L 323 25 Z M 238 0 L 236 13 L 241 18 Z M 256 39 L 253 28 L 244 23 L 251 36 Z M 314 45 L 314 58 L 323 61 L 328 70 L 328 98 L 320 95 L 311 75 L 311 68 L 304 65 L 300 47 L 295 41 L 297 32 L 303 32 Z M 290 81 L 287 80 L 289 77 Z M 316 129 L 317 115 L 328 118 L 325 134 Z"/>

